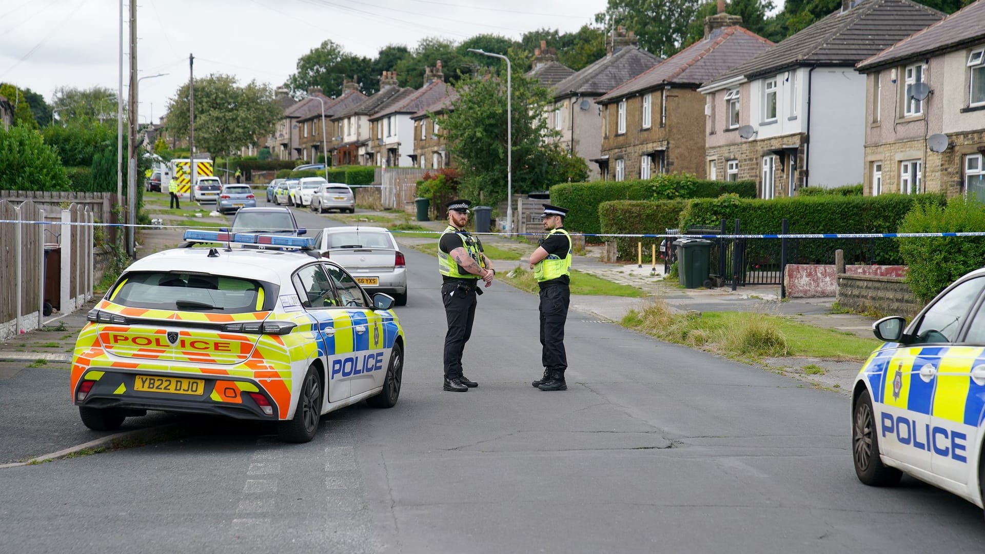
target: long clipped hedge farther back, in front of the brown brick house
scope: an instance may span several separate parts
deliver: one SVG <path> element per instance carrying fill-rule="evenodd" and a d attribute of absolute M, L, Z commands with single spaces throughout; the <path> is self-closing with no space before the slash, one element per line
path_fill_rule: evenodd
<path fill-rule="evenodd" d="M 755 198 L 755 181 L 703 180 L 687 173 L 675 173 L 646 180 L 565 182 L 551 187 L 551 203 L 570 210 L 564 218 L 565 228 L 594 234 L 602 229 L 599 205 L 603 202 L 715 198 L 730 192 Z"/>

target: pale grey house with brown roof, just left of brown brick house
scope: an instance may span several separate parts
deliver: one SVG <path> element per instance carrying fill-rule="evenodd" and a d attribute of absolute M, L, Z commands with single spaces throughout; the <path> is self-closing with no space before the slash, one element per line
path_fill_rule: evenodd
<path fill-rule="evenodd" d="M 619 28 L 608 45 L 606 57 L 559 81 L 552 89 L 554 104 L 546 116 L 560 133 L 558 143 L 569 154 L 589 164 L 589 178 L 599 178 L 608 169 L 602 158 L 602 109 L 595 99 L 657 65 L 663 58 L 636 45 L 633 33 Z"/>

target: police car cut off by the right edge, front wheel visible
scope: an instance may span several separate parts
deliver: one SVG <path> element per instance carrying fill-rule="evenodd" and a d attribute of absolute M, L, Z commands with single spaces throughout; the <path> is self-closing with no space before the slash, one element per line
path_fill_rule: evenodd
<path fill-rule="evenodd" d="M 855 473 L 886 486 L 902 473 L 982 507 L 985 419 L 985 268 L 968 273 L 907 326 L 873 324 L 886 341 L 852 395 Z"/>

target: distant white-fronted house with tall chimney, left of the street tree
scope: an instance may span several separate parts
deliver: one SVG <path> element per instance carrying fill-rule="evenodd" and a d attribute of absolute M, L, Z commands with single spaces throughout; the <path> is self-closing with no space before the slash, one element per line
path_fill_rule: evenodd
<path fill-rule="evenodd" d="M 391 103 L 369 117 L 369 147 L 374 166 L 392 168 L 414 166 L 414 141 L 416 123 L 412 116 L 448 97 L 453 91 L 444 82 L 441 60 L 434 67 L 425 68 L 425 83 L 413 95 L 401 102 Z"/>

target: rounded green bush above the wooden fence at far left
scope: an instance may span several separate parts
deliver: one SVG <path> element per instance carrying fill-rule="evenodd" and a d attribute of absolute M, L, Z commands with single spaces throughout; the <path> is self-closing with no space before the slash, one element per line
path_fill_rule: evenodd
<path fill-rule="evenodd" d="M 39 132 L 0 127 L 0 190 L 68 190 L 69 185 L 57 152 Z"/>

